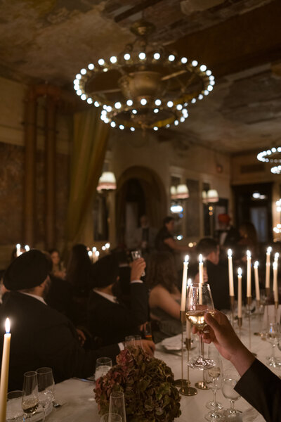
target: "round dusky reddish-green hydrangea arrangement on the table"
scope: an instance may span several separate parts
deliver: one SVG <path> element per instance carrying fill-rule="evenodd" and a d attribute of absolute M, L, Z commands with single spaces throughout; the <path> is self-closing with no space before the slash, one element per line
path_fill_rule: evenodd
<path fill-rule="evenodd" d="M 108 411 L 111 392 L 122 391 L 127 422 L 170 422 L 181 415 L 174 373 L 162 360 L 141 347 L 122 350 L 116 360 L 117 365 L 98 378 L 93 390 L 99 414 Z"/>

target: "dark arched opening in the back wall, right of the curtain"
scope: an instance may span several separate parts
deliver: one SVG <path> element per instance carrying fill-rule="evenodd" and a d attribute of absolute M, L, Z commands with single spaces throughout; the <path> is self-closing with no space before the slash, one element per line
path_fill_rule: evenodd
<path fill-rule="evenodd" d="M 148 167 L 134 166 L 117 180 L 116 227 L 119 243 L 126 243 L 126 231 L 138 226 L 148 215 L 151 226 L 159 228 L 166 215 L 166 193 L 159 176 Z M 129 227 L 128 227 L 129 224 Z"/>

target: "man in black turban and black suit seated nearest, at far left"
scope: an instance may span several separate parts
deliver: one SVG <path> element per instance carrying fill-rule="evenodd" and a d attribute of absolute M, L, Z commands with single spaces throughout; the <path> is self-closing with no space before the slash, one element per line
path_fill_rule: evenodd
<path fill-rule="evenodd" d="M 115 359 L 124 347 L 121 343 L 85 351 L 70 320 L 44 301 L 50 283 L 48 271 L 46 256 L 34 249 L 16 258 L 4 274 L 10 292 L 0 307 L 0 326 L 7 316 L 11 319 L 9 390 L 21 390 L 23 373 L 41 366 L 53 369 L 56 383 L 73 376 L 91 376 L 98 357 Z M 3 338 L 0 335 L 0 350 Z M 150 345 L 153 349 L 152 342 Z"/>

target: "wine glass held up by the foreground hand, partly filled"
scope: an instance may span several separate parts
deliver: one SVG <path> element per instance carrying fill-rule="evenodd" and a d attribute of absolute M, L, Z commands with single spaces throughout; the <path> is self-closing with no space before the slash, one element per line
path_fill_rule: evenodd
<path fill-rule="evenodd" d="M 204 314 L 209 312 L 214 315 L 214 303 L 211 298 L 210 286 L 207 283 L 192 283 L 187 288 L 187 298 L 185 307 L 186 317 L 190 323 L 194 325 L 199 331 L 199 356 L 191 359 L 188 366 L 197 369 L 209 369 L 215 366 L 215 362 L 211 359 L 205 359 L 203 356 L 203 340 L 202 333 L 207 326 L 204 319 Z"/>

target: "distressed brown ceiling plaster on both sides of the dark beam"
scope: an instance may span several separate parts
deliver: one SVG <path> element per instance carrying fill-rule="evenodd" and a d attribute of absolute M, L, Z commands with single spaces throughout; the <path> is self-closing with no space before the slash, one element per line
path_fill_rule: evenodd
<path fill-rule="evenodd" d="M 221 0 L 216 6 L 194 11 L 194 0 L 2 0 L 0 75 L 71 90 L 80 68 L 93 58 L 121 51 L 133 40 L 129 27 L 143 13 L 156 25 L 153 40 L 169 44 L 273 3 Z M 281 72 L 273 72 L 270 58 L 265 68 L 253 63 L 247 63 L 250 70 L 244 75 L 219 77 L 214 92 L 190 107 L 188 120 L 170 135 L 159 134 L 160 140 L 178 136 L 186 146 L 198 142 L 235 153 L 269 146 L 279 139 Z"/>

